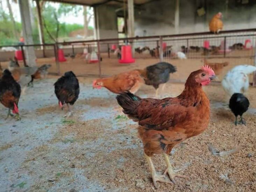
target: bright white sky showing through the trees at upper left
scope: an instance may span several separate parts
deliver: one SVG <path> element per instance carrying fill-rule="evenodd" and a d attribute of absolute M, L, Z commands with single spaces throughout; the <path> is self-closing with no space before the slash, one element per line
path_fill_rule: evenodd
<path fill-rule="evenodd" d="M 3 3 L 3 9 L 5 10 L 5 12 L 9 13 L 6 0 L 2 0 L 2 3 Z M 14 19 L 18 22 L 21 22 L 19 5 L 17 3 L 12 2 L 12 0 L 10 0 L 10 3 L 12 6 Z M 50 2 L 50 4 L 56 8 L 59 6 L 59 3 Z M 65 17 L 63 16 L 59 18 L 59 21 L 61 23 L 66 22 L 70 24 L 77 23 L 77 24 L 83 25 L 84 24 L 83 10 L 81 10 L 77 14 L 77 16 L 74 16 L 74 15 L 69 15 Z M 91 22 L 89 23 L 89 26 L 93 26 L 93 20 L 91 20 Z"/>

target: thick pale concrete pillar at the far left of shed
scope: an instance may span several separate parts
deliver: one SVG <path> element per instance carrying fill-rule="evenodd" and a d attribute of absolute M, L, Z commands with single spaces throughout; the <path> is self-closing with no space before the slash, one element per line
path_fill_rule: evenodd
<path fill-rule="evenodd" d="M 32 38 L 32 26 L 30 21 L 30 14 L 32 13 L 30 13 L 29 11 L 29 0 L 20 0 L 18 2 L 22 22 L 22 33 L 25 40 L 25 44 L 34 44 Z M 36 55 L 33 46 L 26 47 L 26 59 L 28 66 L 36 66 Z"/>

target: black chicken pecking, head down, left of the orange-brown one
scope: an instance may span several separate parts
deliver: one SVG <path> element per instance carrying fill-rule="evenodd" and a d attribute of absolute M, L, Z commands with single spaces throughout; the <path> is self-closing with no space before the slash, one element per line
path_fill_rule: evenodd
<path fill-rule="evenodd" d="M 54 87 L 61 109 L 64 108 L 65 104 L 67 105 L 68 112 L 64 117 L 71 116 L 70 105 L 74 105 L 80 92 L 76 75 L 72 71 L 65 72 L 64 76 L 55 82 Z"/>

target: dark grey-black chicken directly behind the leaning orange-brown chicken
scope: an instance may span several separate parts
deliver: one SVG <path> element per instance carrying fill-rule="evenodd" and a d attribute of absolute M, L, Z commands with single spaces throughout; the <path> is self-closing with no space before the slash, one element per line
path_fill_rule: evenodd
<path fill-rule="evenodd" d="M 146 85 L 152 85 L 156 89 L 155 97 L 157 97 L 159 85 L 168 82 L 170 79 L 170 73 L 174 73 L 176 71 L 176 67 L 172 64 L 159 62 L 155 65 L 146 67 L 144 70 L 141 70 L 141 76 L 144 78 Z"/>

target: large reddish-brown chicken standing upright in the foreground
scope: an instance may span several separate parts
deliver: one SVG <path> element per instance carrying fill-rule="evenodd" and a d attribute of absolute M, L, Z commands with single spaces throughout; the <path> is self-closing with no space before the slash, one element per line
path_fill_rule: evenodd
<path fill-rule="evenodd" d="M 214 71 L 209 66 L 203 66 L 190 74 L 184 91 L 178 97 L 142 99 L 129 92 L 116 97 L 123 113 L 140 125 L 138 135 L 143 142 L 144 155 L 156 188 L 157 181 L 171 182 L 157 175 L 151 160 L 154 154 L 163 154 L 167 164 L 164 174 L 168 173 L 172 182 L 176 176 L 186 177 L 173 170 L 169 154 L 176 144 L 207 128 L 210 106 L 202 85 L 208 85 L 214 77 Z"/>

